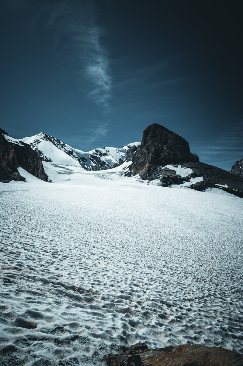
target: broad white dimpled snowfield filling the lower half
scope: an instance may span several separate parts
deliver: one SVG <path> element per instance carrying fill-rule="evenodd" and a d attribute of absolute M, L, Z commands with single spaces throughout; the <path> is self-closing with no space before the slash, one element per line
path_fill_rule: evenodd
<path fill-rule="evenodd" d="M 129 164 L 0 183 L 3 365 L 105 365 L 138 341 L 243 352 L 243 199 L 139 183 Z"/>

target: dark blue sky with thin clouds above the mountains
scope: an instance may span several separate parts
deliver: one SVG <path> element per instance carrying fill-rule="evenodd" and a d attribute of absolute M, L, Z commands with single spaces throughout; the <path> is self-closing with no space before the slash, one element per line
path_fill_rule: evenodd
<path fill-rule="evenodd" d="M 240 2 L 0 0 L 0 127 L 89 151 L 159 123 L 200 161 L 243 158 Z"/>

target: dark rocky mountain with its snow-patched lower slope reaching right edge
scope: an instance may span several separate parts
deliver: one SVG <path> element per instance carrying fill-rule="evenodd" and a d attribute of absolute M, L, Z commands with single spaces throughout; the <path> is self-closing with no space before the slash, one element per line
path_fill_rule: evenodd
<path fill-rule="evenodd" d="M 181 136 L 154 123 L 143 131 L 141 145 L 127 152 L 128 176 L 140 175 L 149 184 L 197 191 L 220 189 L 243 197 L 243 178 L 199 161 Z"/>

